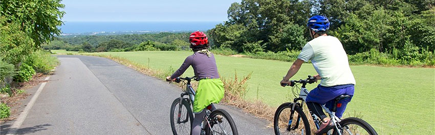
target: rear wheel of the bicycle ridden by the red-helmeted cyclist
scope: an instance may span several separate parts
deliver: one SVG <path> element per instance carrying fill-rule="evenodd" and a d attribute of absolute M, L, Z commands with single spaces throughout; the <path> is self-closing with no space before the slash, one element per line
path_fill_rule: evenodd
<path fill-rule="evenodd" d="M 234 120 L 227 111 L 216 109 L 211 112 L 209 117 L 211 118 L 209 121 L 211 129 L 206 125 L 206 134 L 238 135 Z"/>

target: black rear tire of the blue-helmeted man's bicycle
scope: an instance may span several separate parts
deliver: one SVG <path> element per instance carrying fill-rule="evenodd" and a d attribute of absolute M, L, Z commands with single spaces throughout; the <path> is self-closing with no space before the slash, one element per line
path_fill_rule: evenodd
<path fill-rule="evenodd" d="M 341 125 L 341 127 L 343 127 L 343 129 L 345 128 L 345 126 L 347 126 L 349 124 L 356 124 L 358 126 L 361 126 L 365 131 L 367 131 L 368 134 L 378 135 L 378 133 L 375 131 L 375 129 L 370 124 L 368 124 L 367 122 L 365 122 L 362 119 L 355 118 L 355 117 L 349 117 L 349 118 L 345 118 L 345 119 L 340 121 L 340 125 Z M 338 134 L 336 129 L 334 129 L 333 134 Z M 344 132 L 344 134 L 346 134 L 346 133 Z"/>

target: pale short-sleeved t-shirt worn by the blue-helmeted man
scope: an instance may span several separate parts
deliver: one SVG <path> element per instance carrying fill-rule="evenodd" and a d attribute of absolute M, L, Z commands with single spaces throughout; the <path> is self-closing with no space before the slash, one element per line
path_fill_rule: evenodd
<path fill-rule="evenodd" d="M 321 86 L 355 85 L 346 52 L 341 42 L 333 36 L 320 36 L 303 46 L 298 59 L 311 60 L 314 69 L 322 77 Z"/>

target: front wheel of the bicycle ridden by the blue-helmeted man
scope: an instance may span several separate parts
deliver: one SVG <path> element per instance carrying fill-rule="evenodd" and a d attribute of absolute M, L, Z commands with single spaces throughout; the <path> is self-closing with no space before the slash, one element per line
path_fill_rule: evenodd
<path fill-rule="evenodd" d="M 292 110 L 293 103 L 279 105 L 273 118 L 273 128 L 276 135 L 280 134 L 311 134 L 307 116 L 299 105 Z"/>

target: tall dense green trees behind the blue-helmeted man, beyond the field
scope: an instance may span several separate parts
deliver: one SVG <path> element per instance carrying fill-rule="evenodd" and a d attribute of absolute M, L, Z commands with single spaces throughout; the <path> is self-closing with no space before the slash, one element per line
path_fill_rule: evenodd
<path fill-rule="evenodd" d="M 311 40 L 306 31 L 307 18 L 324 15 L 331 21 L 328 34 L 337 37 L 347 53 L 358 54 L 353 57 L 355 63 L 433 65 L 434 3 L 244 0 L 229 7 L 229 20 L 217 24 L 209 36 L 214 48 L 230 48 L 251 58 L 288 61 L 282 52 L 300 50 Z M 359 60 L 375 53 L 379 57 Z"/>

